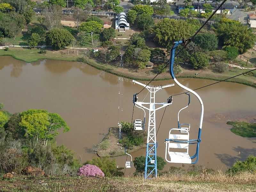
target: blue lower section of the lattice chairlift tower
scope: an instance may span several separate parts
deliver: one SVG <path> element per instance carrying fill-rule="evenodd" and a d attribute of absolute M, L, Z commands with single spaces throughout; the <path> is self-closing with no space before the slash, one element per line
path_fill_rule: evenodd
<path fill-rule="evenodd" d="M 157 177 L 156 143 L 147 143 L 144 178 L 153 177 Z"/>

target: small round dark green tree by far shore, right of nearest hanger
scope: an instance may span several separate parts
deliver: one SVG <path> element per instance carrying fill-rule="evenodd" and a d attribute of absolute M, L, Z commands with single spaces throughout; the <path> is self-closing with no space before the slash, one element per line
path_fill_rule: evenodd
<path fill-rule="evenodd" d="M 195 52 L 191 55 L 190 63 L 194 69 L 207 68 L 209 66 L 209 59 L 204 52 Z"/>

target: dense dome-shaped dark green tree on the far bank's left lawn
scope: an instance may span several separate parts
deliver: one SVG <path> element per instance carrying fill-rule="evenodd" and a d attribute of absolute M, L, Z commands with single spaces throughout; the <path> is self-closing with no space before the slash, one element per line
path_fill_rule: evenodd
<path fill-rule="evenodd" d="M 46 33 L 46 44 L 52 45 L 54 49 L 68 46 L 74 36 L 66 29 L 54 28 Z"/>

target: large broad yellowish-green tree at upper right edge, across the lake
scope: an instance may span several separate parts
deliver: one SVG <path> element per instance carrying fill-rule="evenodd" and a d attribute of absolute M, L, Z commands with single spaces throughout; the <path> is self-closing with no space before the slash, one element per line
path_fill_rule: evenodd
<path fill-rule="evenodd" d="M 251 49 L 256 38 L 251 28 L 237 22 L 220 24 L 217 28 L 217 34 L 220 42 L 223 42 L 224 48 L 227 46 L 236 47 L 239 53 L 244 53 Z"/>

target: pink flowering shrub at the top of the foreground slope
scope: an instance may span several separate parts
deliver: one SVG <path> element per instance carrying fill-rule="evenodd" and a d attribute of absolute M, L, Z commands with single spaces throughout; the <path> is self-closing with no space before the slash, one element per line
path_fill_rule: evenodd
<path fill-rule="evenodd" d="M 95 176 L 104 177 L 104 173 L 96 165 L 86 164 L 78 169 L 77 175 L 79 176 Z"/>

